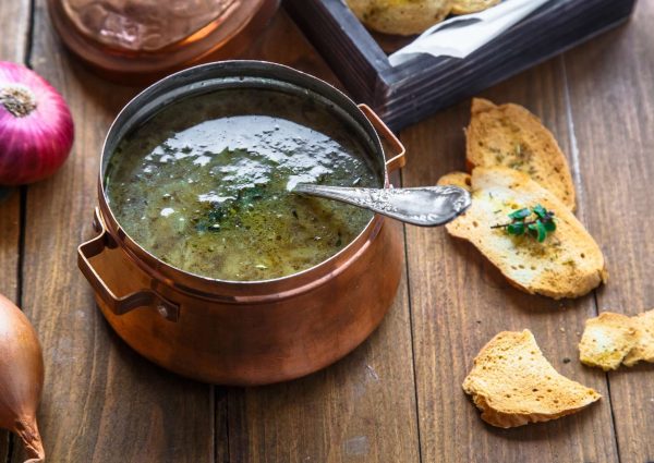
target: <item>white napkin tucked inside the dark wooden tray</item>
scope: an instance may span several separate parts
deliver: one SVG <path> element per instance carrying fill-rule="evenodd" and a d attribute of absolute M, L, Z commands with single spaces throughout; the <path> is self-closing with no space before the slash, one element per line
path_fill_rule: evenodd
<path fill-rule="evenodd" d="M 429 27 L 388 57 L 396 66 L 415 54 L 465 58 L 550 0 L 505 0 L 481 13 L 456 16 Z"/>

